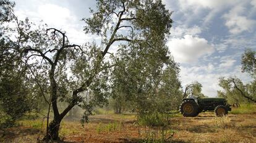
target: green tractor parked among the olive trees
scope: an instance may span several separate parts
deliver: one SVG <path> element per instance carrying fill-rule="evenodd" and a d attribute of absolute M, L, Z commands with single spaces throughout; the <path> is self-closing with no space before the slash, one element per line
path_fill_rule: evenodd
<path fill-rule="evenodd" d="M 231 106 L 224 98 L 199 98 L 189 95 L 186 99 L 182 99 L 179 111 L 183 116 L 197 116 L 205 111 L 213 111 L 217 116 L 223 116 L 231 111 Z"/>

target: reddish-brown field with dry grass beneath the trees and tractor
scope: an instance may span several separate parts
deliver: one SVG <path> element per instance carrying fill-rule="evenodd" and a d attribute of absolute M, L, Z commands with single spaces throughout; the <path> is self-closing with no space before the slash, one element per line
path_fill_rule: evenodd
<path fill-rule="evenodd" d="M 0 131 L 0 142 L 37 142 L 43 137 L 42 120 L 22 120 L 19 124 Z M 62 142 L 256 142 L 256 113 L 236 110 L 224 117 L 213 112 L 190 118 L 176 115 L 164 129 L 138 125 L 132 114 L 94 115 L 84 128 L 79 120 L 61 124 Z"/>

